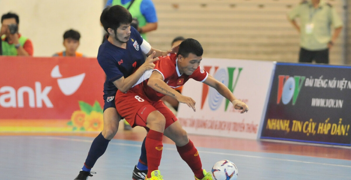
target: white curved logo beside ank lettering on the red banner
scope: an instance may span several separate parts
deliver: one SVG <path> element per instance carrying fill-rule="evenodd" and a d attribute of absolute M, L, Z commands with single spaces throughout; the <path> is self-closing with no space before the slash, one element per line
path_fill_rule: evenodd
<path fill-rule="evenodd" d="M 56 65 L 51 70 L 51 77 L 58 78 L 57 84 L 59 85 L 61 92 L 66 96 L 70 96 L 74 94 L 82 84 L 85 77 L 85 73 L 82 73 L 76 76 L 62 78 L 62 75 L 59 70 L 59 65 Z"/>

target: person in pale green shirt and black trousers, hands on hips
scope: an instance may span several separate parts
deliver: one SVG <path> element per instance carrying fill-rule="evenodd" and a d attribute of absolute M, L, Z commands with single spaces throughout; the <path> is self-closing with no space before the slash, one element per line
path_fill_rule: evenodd
<path fill-rule="evenodd" d="M 324 0 L 304 0 L 287 16 L 300 34 L 299 62 L 329 63 L 329 50 L 343 26 L 335 9 Z"/>

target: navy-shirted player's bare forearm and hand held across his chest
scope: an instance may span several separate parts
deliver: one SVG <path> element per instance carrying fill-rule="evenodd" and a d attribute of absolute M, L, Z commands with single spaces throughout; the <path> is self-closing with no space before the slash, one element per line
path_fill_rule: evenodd
<path fill-rule="evenodd" d="M 127 78 L 121 77 L 113 82 L 113 84 L 122 92 L 127 92 L 135 83 L 138 82 L 139 78 L 144 74 L 145 71 L 151 70 L 155 67 L 153 62 L 159 60 L 159 58 L 153 58 L 155 51 L 151 53 L 142 64 L 132 75 Z"/>

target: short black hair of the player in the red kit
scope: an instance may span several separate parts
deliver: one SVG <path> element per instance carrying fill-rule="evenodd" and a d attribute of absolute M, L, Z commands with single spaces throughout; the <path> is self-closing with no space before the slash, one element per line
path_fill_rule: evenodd
<path fill-rule="evenodd" d="M 204 50 L 202 49 L 199 41 L 188 38 L 180 43 L 178 55 L 182 55 L 184 58 L 186 58 L 190 53 L 195 54 L 196 56 L 202 56 Z"/>

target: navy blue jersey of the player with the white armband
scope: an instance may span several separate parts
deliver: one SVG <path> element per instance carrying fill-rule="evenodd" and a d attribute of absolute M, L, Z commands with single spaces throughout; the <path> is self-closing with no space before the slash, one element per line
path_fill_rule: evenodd
<path fill-rule="evenodd" d="M 139 32 L 131 27 L 131 36 L 126 49 L 114 46 L 105 41 L 99 47 L 98 62 L 105 71 L 104 94 L 116 91 L 117 87 L 112 83 L 124 76 L 130 76 L 135 69 L 145 62 L 145 56 L 140 48 L 143 38 Z"/>

